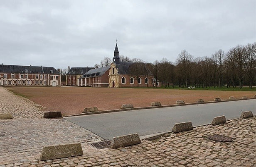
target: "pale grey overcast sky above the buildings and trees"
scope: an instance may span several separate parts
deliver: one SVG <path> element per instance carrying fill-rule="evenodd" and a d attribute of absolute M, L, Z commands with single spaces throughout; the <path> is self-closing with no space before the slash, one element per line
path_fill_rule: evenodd
<path fill-rule="evenodd" d="M 0 63 L 94 67 L 119 55 L 175 62 L 256 42 L 256 0 L 0 0 Z"/>

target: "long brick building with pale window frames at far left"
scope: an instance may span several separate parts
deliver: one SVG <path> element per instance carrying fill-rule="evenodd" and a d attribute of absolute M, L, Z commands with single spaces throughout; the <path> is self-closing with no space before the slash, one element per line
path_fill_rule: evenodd
<path fill-rule="evenodd" d="M 0 64 L 0 86 L 61 86 L 54 67 Z"/>

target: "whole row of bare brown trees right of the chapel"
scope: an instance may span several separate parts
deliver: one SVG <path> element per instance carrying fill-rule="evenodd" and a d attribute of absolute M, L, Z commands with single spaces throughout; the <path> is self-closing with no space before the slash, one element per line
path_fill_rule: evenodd
<path fill-rule="evenodd" d="M 256 43 L 237 45 L 224 52 L 216 51 L 212 56 L 194 58 L 186 50 L 177 57 L 176 64 L 162 59 L 154 62 L 159 67 L 158 79 L 167 86 L 176 83 L 180 87 L 236 87 L 256 85 Z M 174 86 L 173 84 L 173 86 Z M 169 85 L 168 85 L 169 86 Z"/>

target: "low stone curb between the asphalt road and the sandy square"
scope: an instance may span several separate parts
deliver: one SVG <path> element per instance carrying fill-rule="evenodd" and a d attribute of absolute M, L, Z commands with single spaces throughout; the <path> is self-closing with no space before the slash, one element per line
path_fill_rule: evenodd
<path fill-rule="evenodd" d="M 229 102 L 229 101 L 252 100 L 252 99 L 256 99 L 256 98 L 208 101 L 208 102 L 200 102 L 200 103 L 185 103 L 185 104 L 173 104 L 173 105 L 159 105 L 159 106 L 147 106 L 147 107 L 134 107 L 134 108 L 125 108 L 125 109 L 116 109 L 116 110 L 103 110 L 103 111 L 96 111 L 96 112 L 86 112 L 86 113 L 81 113 L 81 114 L 76 114 L 76 115 L 66 115 L 66 116 L 62 116 L 62 117 L 75 117 L 75 116 L 82 116 L 82 115 L 104 114 L 104 113 L 110 113 L 110 112 L 145 110 L 145 109 L 154 109 L 154 108 L 162 108 L 162 107 L 177 107 L 177 106 L 199 105 L 199 104 L 208 104 L 208 103 L 222 103 L 222 102 Z"/>

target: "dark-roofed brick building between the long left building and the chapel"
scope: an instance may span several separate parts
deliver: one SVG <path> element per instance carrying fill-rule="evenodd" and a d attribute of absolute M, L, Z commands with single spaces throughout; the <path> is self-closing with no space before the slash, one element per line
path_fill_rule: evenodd
<path fill-rule="evenodd" d="M 68 67 L 68 72 L 66 74 L 66 85 L 67 86 L 79 86 L 78 79 L 83 76 L 89 70 L 94 69 L 94 67 Z"/>

